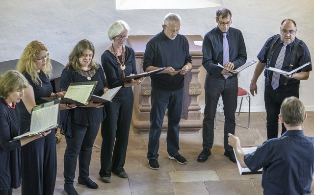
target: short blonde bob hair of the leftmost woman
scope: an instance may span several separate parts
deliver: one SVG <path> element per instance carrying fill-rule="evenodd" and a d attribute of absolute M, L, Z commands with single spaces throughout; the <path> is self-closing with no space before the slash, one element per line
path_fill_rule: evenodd
<path fill-rule="evenodd" d="M 27 87 L 27 79 L 16 70 L 9 70 L 0 75 L 0 97 L 7 98 L 10 93 Z"/>

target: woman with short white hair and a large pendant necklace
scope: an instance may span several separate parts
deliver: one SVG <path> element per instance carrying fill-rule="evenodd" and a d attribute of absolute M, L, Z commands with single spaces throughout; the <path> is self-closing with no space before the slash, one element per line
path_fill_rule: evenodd
<path fill-rule="evenodd" d="M 129 37 L 129 25 L 124 21 L 114 22 L 108 30 L 108 38 L 113 41 L 102 55 L 102 66 L 110 88 L 122 88 L 113 97 L 112 103 L 105 105 L 106 118 L 102 123 L 101 170 L 103 182 L 111 182 L 111 172 L 121 178 L 128 178 L 124 170 L 133 110 L 132 86 L 140 84 L 144 77 L 130 82 L 118 82 L 125 76 L 137 74 L 134 50 L 124 43 Z"/>

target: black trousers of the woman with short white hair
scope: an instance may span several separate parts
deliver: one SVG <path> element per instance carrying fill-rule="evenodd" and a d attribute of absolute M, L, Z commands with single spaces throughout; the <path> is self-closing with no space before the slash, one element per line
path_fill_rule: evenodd
<path fill-rule="evenodd" d="M 101 177 L 111 172 L 124 172 L 130 125 L 133 111 L 133 94 L 124 99 L 113 99 L 105 105 L 106 117 L 102 123 Z"/>

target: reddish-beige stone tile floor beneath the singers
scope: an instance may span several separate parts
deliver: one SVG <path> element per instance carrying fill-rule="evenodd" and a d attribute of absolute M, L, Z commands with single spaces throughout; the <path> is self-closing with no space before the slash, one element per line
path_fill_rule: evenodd
<path fill-rule="evenodd" d="M 304 122 L 307 136 L 314 136 L 314 112 L 307 112 Z M 266 140 L 265 113 L 251 113 L 250 129 L 247 129 L 248 113 L 236 116 L 235 135 L 242 146 L 258 146 Z M 223 113 L 217 114 L 218 128 L 215 130 L 214 146 L 209 160 L 197 162 L 202 151 L 202 130 L 180 134 L 180 153 L 187 159 L 184 165 L 168 158 L 166 135 L 160 137 L 159 170 L 152 170 L 146 158 L 148 134 L 134 132 L 131 129 L 125 170 L 129 178 L 111 176 L 112 182 L 106 184 L 99 177 L 101 133 L 99 132 L 93 149 L 90 165 L 90 177 L 99 189 L 92 190 L 77 183 L 79 195 L 262 195 L 262 175 L 239 175 L 235 163 L 223 155 Z M 57 144 L 58 169 L 54 195 L 66 195 L 63 190 L 63 154 L 66 144 L 64 137 Z M 78 176 L 78 170 L 77 174 Z M 312 184 L 312 191 L 314 185 Z M 13 191 L 20 195 L 21 188 Z"/>

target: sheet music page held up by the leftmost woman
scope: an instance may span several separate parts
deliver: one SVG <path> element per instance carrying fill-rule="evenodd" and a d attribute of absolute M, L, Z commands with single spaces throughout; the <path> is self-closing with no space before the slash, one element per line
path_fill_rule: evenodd
<path fill-rule="evenodd" d="M 53 104 L 53 102 L 51 102 Z M 45 107 L 33 110 L 31 113 L 30 131 L 40 132 L 49 127 L 55 126 L 58 123 L 59 104 L 53 106 L 46 105 Z"/>

